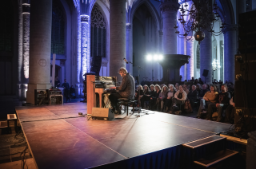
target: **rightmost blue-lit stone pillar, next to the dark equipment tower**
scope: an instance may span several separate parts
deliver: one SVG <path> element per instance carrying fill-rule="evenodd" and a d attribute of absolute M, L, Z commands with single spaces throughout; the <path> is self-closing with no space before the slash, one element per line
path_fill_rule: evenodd
<path fill-rule="evenodd" d="M 236 54 L 237 26 L 228 25 L 224 29 L 224 82 L 234 83 L 234 55 Z"/>

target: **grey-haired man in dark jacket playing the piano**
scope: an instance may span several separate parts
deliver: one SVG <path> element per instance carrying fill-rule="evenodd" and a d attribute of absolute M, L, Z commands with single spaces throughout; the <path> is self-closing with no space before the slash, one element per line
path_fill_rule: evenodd
<path fill-rule="evenodd" d="M 111 93 L 109 96 L 112 111 L 117 114 L 121 114 L 121 109 L 118 108 L 118 99 L 127 98 L 134 99 L 135 96 L 135 81 L 134 77 L 127 72 L 125 68 L 120 68 L 118 73 L 122 77 L 122 83 L 119 87 L 111 87 L 119 92 Z"/>

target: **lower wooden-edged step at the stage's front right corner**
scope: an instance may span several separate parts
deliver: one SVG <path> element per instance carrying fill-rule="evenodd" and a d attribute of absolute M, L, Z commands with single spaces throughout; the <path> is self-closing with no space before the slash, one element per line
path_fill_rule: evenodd
<path fill-rule="evenodd" d="M 214 153 L 213 155 L 209 155 L 204 159 L 198 159 L 197 161 L 194 161 L 194 163 L 197 163 L 198 165 L 202 167 L 210 167 L 214 165 L 215 163 L 219 163 L 223 161 L 224 159 L 228 159 L 233 155 L 238 154 L 238 151 L 232 151 L 232 150 L 222 150 L 218 151 L 217 153 Z"/>

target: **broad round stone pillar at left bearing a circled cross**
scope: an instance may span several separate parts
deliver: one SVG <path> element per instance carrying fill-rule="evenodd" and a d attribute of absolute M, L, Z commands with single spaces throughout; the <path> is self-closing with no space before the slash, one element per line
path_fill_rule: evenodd
<path fill-rule="evenodd" d="M 34 89 L 51 87 L 52 0 L 31 0 L 30 14 L 30 80 L 26 92 L 26 102 L 34 104 Z"/>

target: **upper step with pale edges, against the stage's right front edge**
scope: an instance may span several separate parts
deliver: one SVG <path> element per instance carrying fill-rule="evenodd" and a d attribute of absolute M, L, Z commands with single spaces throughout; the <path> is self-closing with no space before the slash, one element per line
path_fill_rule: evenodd
<path fill-rule="evenodd" d="M 190 143 L 184 143 L 182 145 L 185 147 L 190 147 L 190 148 L 194 149 L 196 147 L 202 147 L 208 143 L 214 143 L 214 142 L 221 141 L 221 140 L 226 140 L 226 138 L 222 137 L 222 136 L 209 136 L 209 137 L 203 138 L 201 140 L 195 140 Z"/>

